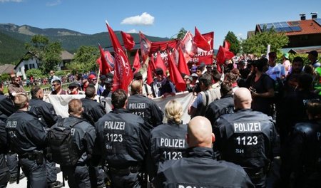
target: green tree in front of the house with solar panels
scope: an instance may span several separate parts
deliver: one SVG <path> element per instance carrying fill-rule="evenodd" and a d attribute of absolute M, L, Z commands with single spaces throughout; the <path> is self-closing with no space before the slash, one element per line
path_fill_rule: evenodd
<path fill-rule="evenodd" d="M 274 29 L 270 29 L 244 40 L 242 48 L 244 53 L 261 56 L 266 53 L 268 44 L 271 46 L 270 51 L 277 52 L 287 43 L 289 43 L 289 38 L 285 36 L 285 33 L 277 33 Z"/>

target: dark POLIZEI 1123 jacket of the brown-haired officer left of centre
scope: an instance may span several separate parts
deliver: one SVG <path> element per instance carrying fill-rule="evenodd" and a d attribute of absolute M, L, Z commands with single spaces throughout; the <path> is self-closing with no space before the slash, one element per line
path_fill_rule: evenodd
<path fill-rule="evenodd" d="M 103 159 L 109 167 L 141 166 L 147 151 L 150 127 L 128 110 L 113 109 L 95 123 Z"/>

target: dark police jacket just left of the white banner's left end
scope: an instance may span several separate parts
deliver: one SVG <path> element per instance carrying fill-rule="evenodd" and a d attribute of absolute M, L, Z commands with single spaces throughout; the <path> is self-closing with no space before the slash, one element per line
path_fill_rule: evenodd
<path fill-rule="evenodd" d="M 41 120 L 46 127 L 51 127 L 60 118 L 56 114 L 54 106 L 51 105 L 51 103 L 46 103 L 44 100 L 39 98 L 32 98 L 29 100 L 28 111 L 36 115 L 36 117 L 39 117 L 39 120 Z"/>

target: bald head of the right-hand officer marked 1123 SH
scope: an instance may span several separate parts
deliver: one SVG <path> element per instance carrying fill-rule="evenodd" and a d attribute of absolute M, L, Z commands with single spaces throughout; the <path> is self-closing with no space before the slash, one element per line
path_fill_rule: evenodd
<path fill-rule="evenodd" d="M 247 88 L 238 88 L 234 93 L 235 109 L 251 108 L 252 95 Z"/>

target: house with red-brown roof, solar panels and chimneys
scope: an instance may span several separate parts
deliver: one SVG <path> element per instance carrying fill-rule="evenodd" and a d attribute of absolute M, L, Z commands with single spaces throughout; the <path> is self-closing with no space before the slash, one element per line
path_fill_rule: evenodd
<path fill-rule="evenodd" d="M 289 38 L 289 43 L 287 46 L 284 46 L 287 50 L 285 52 L 296 49 L 295 53 L 301 53 L 309 51 L 310 48 L 321 51 L 321 19 L 317 18 L 316 13 L 311 14 L 311 19 L 306 19 L 305 14 L 300 14 L 300 20 L 296 21 L 257 24 L 255 26 L 255 34 L 274 28 L 277 33 L 284 32 Z M 248 37 L 250 36 L 248 33 Z"/>

